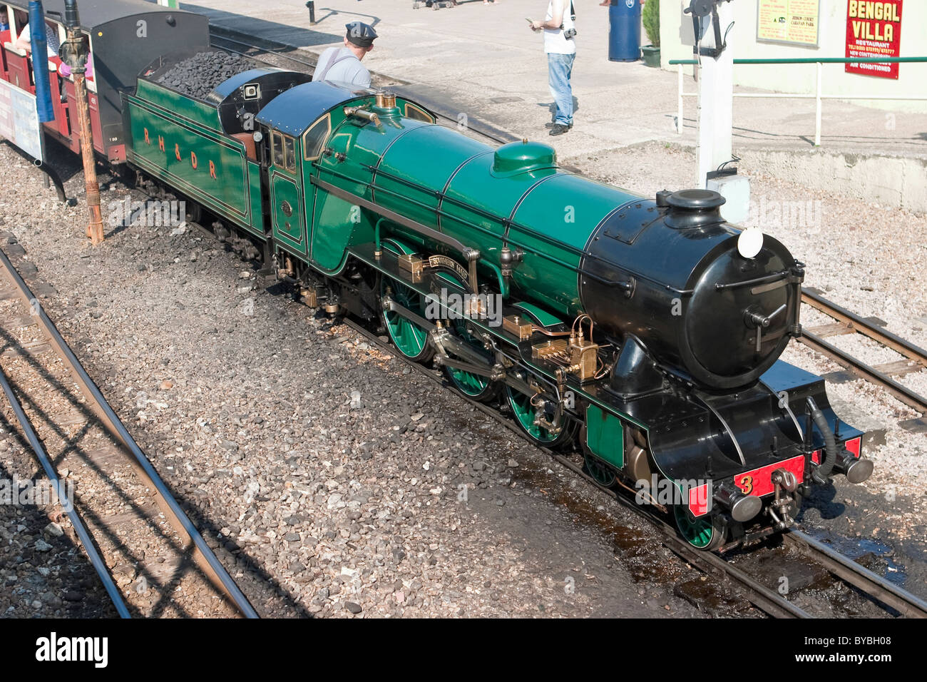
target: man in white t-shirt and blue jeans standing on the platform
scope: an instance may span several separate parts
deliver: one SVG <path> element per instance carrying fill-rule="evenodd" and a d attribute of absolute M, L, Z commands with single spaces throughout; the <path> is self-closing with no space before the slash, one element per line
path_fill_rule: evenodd
<path fill-rule="evenodd" d="M 572 0 L 550 0 L 543 21 L 532 21 L 531 30 L 544 32 L 548 84 L 557 111 L 548 124 L 551 135 L 563 135 L 573 127 L 573 61 L 577 56 L 576 24 Z"/>

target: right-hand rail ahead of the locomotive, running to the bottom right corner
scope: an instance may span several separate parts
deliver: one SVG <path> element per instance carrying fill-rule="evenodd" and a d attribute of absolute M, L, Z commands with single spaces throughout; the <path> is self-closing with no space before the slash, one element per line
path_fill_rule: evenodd
<path fill-rule="evenodd" d="M 832 547 L 794 529 L 782 537 L 786 543 L 806 552 L 844 582 L 858 587 L 901 615 L 908 618 L 927 618 L 927 601 L 912 595 L 878 573 L 872 573 L 865 566 L 844 557 Z"/>

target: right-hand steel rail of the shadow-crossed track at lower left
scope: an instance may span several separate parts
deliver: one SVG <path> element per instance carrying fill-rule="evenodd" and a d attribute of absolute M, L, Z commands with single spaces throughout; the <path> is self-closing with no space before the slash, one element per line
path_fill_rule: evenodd
<path fill-rule="evenodd" d="M 135 443 L 132 434 L 125 428 L 125 425 L 113 411 L 99 387 L 87 374 L 80 360 L 71 351 L 67 341 L 61 336 L 61 332 L 45 314 L 44 308 L 37 304 L 38 299 L 2 250 L 0 250 L 0 265 L 3 266 L 6 276 L 14 284 L 20 299 L 34 311 L 37 323 L 43 329 L 45 336 L 55 348 L 57 354 L 67 364 L 82 392 L 91 399 L 92 407 L 97 417 L 100 418 L 102 425 L 121 443 L 125 452 L 132 456 L 136 471 L 155 491 L 159 508 L 164 512 L 174 529 L 184 536 L 184 540 L 194 545 L 194 556 L 197 563 L 200 564 L 210 582 L 231 599 L 242 615 L 246 618 L 258 618 L 258 612 L 254 610 L 241 588 L 235 584 L 235 580 L 222 566 L 222 562 L 212 552 L 203 536 L 199 534 L 193 521 L 190 521 L 189 517 L 184 513 L 183 508 L 171 494 L 167 484 L 164 483 L 158 471 L 148 461 L 142 449 Z"/>

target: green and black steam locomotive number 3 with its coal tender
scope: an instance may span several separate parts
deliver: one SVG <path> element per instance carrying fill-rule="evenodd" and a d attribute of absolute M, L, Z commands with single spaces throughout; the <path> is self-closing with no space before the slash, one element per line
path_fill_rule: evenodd
<path fill-rule="evenodd" d="M 130 24 L 153 10 L 111 7 Z M 97 151 L 210 212 L 309 305 L 378 319 L 533 442 L 578 445 L 598 483 L 636 488 L 693 547 L 780 532 L 810 486 L 870 476 L 824 381 L 779 359 L 801 334 L 803 264 L 726 224 L 719 195 L 645 199 L 565 172 L 546 145 L 489 148 L 405 97 L 292 71 L 193 97 L 169 76 L 210 51 L 200 19 L 151 16 L 157 54 L 94 36 L 100 73 L 148 58 L 102 122 L 120 144 Z"/>

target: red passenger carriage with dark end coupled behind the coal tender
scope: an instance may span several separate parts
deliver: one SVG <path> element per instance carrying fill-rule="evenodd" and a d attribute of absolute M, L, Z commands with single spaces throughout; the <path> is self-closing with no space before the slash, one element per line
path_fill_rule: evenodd
<path fill-rule="evenodd" d="M 0 78 L 35 95 L 32 57 L 16 46 L 29 21 L 29 0 L 4 0 L 9 29 L 0 32 Z M 59 42 L 64 0 L 44 0 L 45 23 Z M 154 5 L 145 0 L 81 0 L 81 30 L 90 41 L 87 98 L 94 148 L 112 163 L 125 161 L 121 92 L 134 91 L 140 71 L 160 55 L 210 44 L 209 19 L 200 14 Z M 0 10 L 2 11 L 2 10 Z M 55 121 L 43 124 L 45 135 L 71 150 L 81 148 L 74 81 L 61 60 L 48 57 Z"/>

